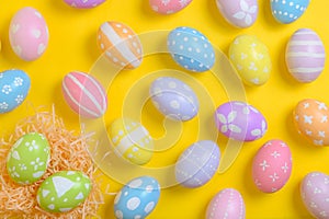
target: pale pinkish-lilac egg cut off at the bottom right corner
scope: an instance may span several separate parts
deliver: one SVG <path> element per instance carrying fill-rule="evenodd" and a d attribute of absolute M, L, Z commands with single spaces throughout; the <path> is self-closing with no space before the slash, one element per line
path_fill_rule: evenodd
<path fill-rule="evenodd" d="M 307 174 L 300 185 L 300 196 L 307 210 L 315 218 L 329 216 L 329 176 L 321 172 Z"/>

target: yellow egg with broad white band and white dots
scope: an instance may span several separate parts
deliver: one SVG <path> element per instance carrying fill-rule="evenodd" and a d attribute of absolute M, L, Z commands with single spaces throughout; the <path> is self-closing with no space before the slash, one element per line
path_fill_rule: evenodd
<path fill-rule="evenodd" d="M 152 158 L 154 139 L 138 122 L 117 118 L 110 125 L 109 135 L 117 154 L 132 163 L 143 165 Z"/>

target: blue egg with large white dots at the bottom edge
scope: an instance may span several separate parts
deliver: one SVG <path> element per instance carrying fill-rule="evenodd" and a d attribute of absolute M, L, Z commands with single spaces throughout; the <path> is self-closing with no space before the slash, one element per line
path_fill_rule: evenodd
<path fill-rule="evenodd" d="M 114 215 L 117 219 L 146 218 L 156 208 L 159 197 L 160 185 L 156 178 L 134 178 L 115 196 Z"/>

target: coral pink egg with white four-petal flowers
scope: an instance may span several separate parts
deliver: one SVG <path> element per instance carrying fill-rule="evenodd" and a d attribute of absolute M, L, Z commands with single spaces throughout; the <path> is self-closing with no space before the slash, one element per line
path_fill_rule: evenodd
<path fill-rule="evenodd" d="M 270 140 L 257 152 L 252 161 L 252 178 L 263 193 L 280 191 L 292 174 L 292 152 L 282 140 Z"/>

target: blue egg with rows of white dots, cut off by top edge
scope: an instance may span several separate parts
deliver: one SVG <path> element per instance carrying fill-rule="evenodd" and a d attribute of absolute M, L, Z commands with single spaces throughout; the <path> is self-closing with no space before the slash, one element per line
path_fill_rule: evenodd
<path fill-rule="evenodd" d="M 290 24 L 304 14 L 308 4 L 309 0 L 271 0 L 271 10 L 276 21 Z"/>

